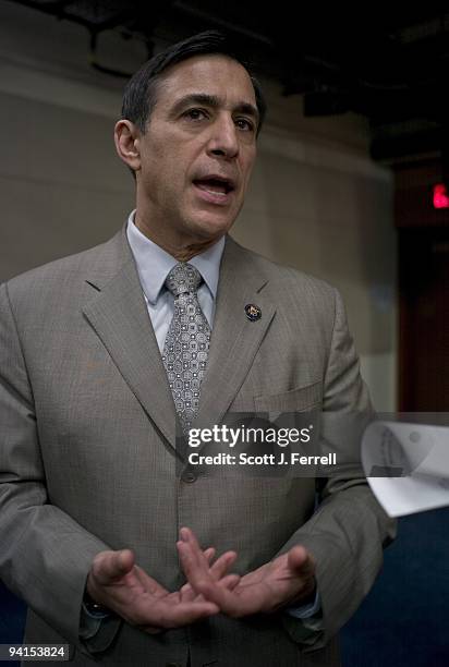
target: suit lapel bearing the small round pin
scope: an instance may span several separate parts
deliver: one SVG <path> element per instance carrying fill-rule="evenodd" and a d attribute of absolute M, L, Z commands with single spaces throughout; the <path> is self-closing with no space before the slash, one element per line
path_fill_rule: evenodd
<path fill-rule="evenodd" d="M 217 308 L 206 376 L 195 425 L 217 424 L 240 390 L 276 308 L 264 288 L 255 256 L 228 237 L 220 268 Z M 255 304 L 260 319 L 251 322 L 245 306 Z"/>

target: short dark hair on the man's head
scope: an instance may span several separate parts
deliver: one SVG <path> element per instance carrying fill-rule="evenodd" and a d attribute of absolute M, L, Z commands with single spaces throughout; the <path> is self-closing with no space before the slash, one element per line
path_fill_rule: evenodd
<path fill-rule="evenodd" d="M 133 122 L 145 133 L 146 123 L 157 101 L 157 84 L 161 74 L 169 66 L 199 54 L 223 54 L 240 62 L 247 71 L 254 87 L 259 122 L 257 134 L 266 113 L 266 102 L 257 80 L 252 75 L 248 65 L 241 60 L 230 44 L 229 38 L 218 31 L 206 31 L 193 35 L 183 41 L 173 44 L 165 51 L 147 60 L 128 82 L 123 93 L 122 118 Z"/>

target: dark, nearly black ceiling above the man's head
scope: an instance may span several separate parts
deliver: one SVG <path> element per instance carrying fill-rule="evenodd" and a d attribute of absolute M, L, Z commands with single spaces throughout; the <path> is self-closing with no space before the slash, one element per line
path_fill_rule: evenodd
<path fill-rule="evenodd" d="M 393 163 L 449 151 L 449 3 L 353 8 L 282 0 L 11 0 L 84 25 L 96 50 L 102 31 L 123 39 L 174 41 L 195 32 L 230 33 L 260 74 L 284 95 L 304 96 L 311 117 L 354 111 L 369 120 L 375 159 Z M 398 7 L 403 4 L 403 7 Z M 94 58 L 94 66 L 110 75 Z M 129 74 L 129 73 L 128 73 Z"/>

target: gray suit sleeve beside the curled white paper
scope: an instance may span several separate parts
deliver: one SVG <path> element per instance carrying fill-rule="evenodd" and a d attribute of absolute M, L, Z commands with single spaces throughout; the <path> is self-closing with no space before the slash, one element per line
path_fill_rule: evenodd
<path fill-rule="evenodd" d="M 381 568 L 383 547 L 396 534 L 396 522 L 375 499 L 360 464 L 360 437 L 373 411 L 338 292 L 323 410 L 326 447 L 337 451 L 342 464 L 318 481 L 316 512 L 281 549 L 302 544 L 316 561 L 324 630 L 313 650 L 323 647 L 357 609 Z M 282 620 L 292 639 L 301 642 L 301 624 L 287 615 Z"/>

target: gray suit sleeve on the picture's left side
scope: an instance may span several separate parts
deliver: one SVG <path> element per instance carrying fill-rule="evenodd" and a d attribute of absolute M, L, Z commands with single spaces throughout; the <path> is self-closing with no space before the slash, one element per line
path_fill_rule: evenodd
<path fill-rule="evenodd" d="M 8 287 L 0 286 L 0 577 L 83 651 L 85 582 L 94 556 L 107 548 L 48 498 L 33 390 Z"/>

